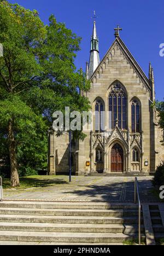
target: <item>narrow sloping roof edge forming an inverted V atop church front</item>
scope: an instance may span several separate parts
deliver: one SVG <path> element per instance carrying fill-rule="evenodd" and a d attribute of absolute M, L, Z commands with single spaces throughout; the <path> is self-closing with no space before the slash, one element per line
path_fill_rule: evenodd
<path fill-rule="evenodd" d="M 113 49 L 115 44 L 118 44 L 120 50 L 126 56 L 126 59 L 128 60 L 128 62 L 130 62 L 131 66 L 133 66 L 134 71 L 142 79 L 142 81 L 146 85 L 147 89 L 149 91 L 151 91 L 150 84 L 149 84 L 149 79 L 148 79 L 147 75 L 143 72 L 142 68 L 139 66 L 138 62 L 134 59 L 133 55 L 130 53 L 130 51 L 128 50 L 128 48 L 126 47 L 126 45 L 124 44 L 124 42 L 121 40 L 120 37 L 116 37 L 115 38 L 113 44 L 110 46 L 110 48 L 107 51 L 106 55 L 103 57 L 103 59 L 101 60 L 101 62 L 99 63 L 99 65 L 97 66 L 95 71 L 93 72 L 90 80 L 92 80 L 92 78 L 95 76 L 95 74 L 96 74 L 97 70 L 99 69 L 99 67 L 102 66 L 103 62 L 106 60 L 106 57 L 109 55 L 110 51 Z"/>

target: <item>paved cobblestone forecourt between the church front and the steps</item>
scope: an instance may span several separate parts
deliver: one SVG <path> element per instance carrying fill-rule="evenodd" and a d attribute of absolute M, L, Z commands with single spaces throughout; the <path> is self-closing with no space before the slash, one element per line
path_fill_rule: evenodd
<path fill-rule="evenodd" d="M 134 177 L 54 176 L 57 184 L 24 190 L 5 189 L 4 200 L 133 202 Z M 142 202 L 156 202 L 152 177 L 138 177 Z"/>

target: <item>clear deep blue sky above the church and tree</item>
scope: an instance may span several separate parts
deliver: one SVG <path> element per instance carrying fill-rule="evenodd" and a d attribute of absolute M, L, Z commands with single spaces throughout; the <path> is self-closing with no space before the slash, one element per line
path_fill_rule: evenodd
<path fill-rule="evenodd" d="M 57 21 L 82 37 L 81 51 L 75 65 L 85 69 L 89 61 L 90 37 L 96 10 L 99 37 L 99 54 L 102 59 L 114 41 L 114 27 L 122 27 L 120 37 L 131 51 L 143 71 L 148 74 L 149 61 L 154 68 L 156 99 L 164 97 L 164 57 L 159 55 L 159 45 L 164 43 L 164 2 L 162 0 L 10 0 L 28 9 L 37 9 L 40 18 L 48 24 L 50 14 Z"/>

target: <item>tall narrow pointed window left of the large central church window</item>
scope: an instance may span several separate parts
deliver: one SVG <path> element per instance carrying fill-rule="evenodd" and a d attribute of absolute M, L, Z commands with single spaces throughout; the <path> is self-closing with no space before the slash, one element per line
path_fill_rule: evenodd
<path fill-rule="evenodd" d="M 104 131 L 104 104 L 97 99 L 95 103 L 95 132 Z"/>

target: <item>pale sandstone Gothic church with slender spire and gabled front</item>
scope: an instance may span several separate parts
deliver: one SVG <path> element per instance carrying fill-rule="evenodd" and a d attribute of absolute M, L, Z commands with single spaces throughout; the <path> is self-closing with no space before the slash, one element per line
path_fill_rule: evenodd
<path fill-rule="evenodd" d="M 93 130 L 85 132 L 84 141 L 73 140 L 72 173 L 75 175 L 150 175 L 164 160 L 161 144 L 163 131 L 158 126 L 154 72 L 140 68 L 120 38 L 115 40 L 103 59 L 99 60 L 96 21 L 93 22 L 90 61 L 86 78 L 90 91 L 80 91 L 89 98 Z M 104 113 L 104 115 L 101 114 Z M 49 134 L 48 174 L 69 172 L 69 136 Z"/>

